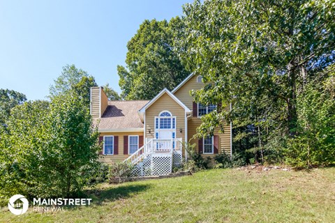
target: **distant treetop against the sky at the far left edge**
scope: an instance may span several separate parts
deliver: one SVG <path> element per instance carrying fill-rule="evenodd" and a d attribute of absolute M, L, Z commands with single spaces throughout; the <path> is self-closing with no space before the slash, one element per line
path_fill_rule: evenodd
<path fill-rule="evenodd" d="M 16 105 L 21 105 L 26 100 L 26 95 L 23 93 L 0 89 L 0 125 L 10 116 L 10 109 Z"/>

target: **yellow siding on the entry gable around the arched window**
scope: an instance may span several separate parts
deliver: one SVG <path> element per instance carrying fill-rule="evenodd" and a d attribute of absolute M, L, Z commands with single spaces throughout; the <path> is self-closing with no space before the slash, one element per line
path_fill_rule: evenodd
<path fill-rule="evenodd" d="M 175 102 L 168 93 L 164 93 L 145 111 L 145 137 L 155 137 L 155 116 L 163 111 L 171 112 L 172 116 L 176 116 L 176 137 L 185 139 L 185 109 Z M 149 133 L 149 129 L 151 132 Z M 180 133 L 179 129 L 182 129 Z"/>

